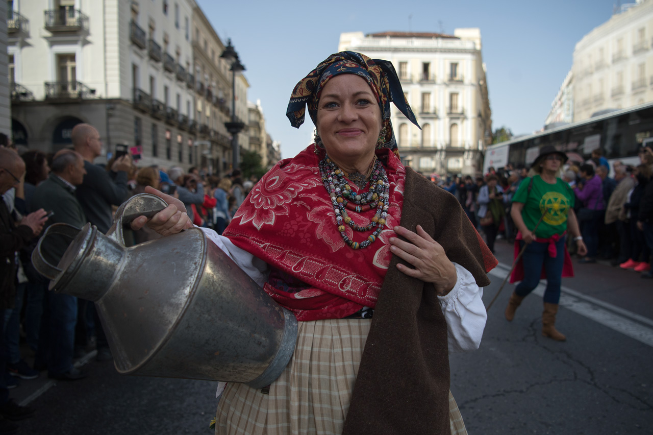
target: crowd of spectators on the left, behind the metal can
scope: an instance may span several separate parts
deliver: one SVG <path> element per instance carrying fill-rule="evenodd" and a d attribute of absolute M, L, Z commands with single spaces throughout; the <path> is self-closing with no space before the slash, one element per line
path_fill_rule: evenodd
<path fill-rule="evenodd" d="M 129 154 L 98 165 L 94 161 L 103 145 L 97 129 L 76 125 L 71 139 L 72 149 L 46 155 L 21 153 L 0 135 L 0 317 L 5 320 L 0 322 L 0 434 L 13 433 L 18 429 L 13 421 L 33 413 L 9 398 L 8 389 L 20 379 L 35 379 L 43 371 L 51 379 L 83 379 L 86 373 L 73 362 L 93 350 L 98 361 L 112 360 L 95 305 L 48 291 L 48 278 L 31 262 L 50 225 L 91 223 L 106 233 L 116 207 L 149 185 L 180 199 L 195 225 L 221 234 L 257 181 L 243 180 L 240 170 L 218 178 L 197 168 L 139 168 Z M 157 237 L 148 228 L 126 234 L 133 244 Z M 42 242 L 42 255 L 56 265 L 69 242 L 50 236 Z"/>

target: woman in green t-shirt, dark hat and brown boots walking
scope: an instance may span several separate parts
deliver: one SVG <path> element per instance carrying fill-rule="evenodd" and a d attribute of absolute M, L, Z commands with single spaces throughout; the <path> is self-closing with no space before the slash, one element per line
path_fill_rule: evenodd
<path fill-rule="evenodd" d="M 531 167 L 530 177 L 522 180 L 513 197 L 510 215 L 519 230 L 515 243 L 519 244 L 519 249 L 526 244 L 526 249 L 511 276 L 511 282 L 521 282 L 515 287 L 505 309 L 505 318 L 513 320 L 524 297 L 537 287 L 544 269 L 547 289 L 544 293 L 542 335 L 558 341 L 565 340 L 564 334 L 555 328 L 561 278 L 573 276 L 563 274 L 565 268 L 572 272 L 565 244 L 567 229 L 576 240 L 579 255 L 587 253 L 573 212 L 573 191 L 558 177 L 565 161 L 567 156 L 564 153 L 553 146 L 544 146 Z"/>

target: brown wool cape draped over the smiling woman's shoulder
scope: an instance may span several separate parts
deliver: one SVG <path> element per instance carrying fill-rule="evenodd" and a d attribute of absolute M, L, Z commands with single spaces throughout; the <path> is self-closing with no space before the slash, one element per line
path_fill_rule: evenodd
<path fill-rule="evenodd" d="M 421 225 L 488 285 L 497 261 L 458 200 L 410 168 L 405 192 L 402 227 Z M 399 261 L 392 256 L 381 287 L 343 435 L 450 433 L 447 323 L 433 285 L 399 272 Z"/>

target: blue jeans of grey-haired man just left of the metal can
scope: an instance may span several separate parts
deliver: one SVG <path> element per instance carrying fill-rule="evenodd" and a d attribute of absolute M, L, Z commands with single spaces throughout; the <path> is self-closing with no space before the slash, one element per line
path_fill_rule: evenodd
<path fill-rule="evenodd" d="M 49 374 L 64 374 L 71 370 L 76 323 L 77 298 L 63 293 L 46 293 L 35 364 L 47 364 Z"/>

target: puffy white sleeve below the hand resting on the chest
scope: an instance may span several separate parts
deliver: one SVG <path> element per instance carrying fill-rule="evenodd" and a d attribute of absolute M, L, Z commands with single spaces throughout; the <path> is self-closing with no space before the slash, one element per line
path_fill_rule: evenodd
<path fill-rule="evenodd" d="M 481 344 L 487 319 L 483 287 L 476 285 L 466 268 L 453 264 L 458 274 L 456 285 L 446 296 L 438 296 L 447 321 L 449 353 L 473 351 Z"/>

